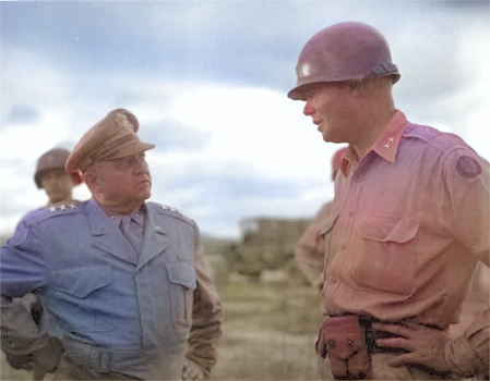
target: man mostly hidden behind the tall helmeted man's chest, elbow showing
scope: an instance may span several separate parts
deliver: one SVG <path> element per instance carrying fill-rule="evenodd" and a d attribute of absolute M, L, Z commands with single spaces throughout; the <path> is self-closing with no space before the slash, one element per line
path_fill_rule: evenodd
<path fill-rule="evenodd" d="M 335 151 L 332 158 L 332 181 L 340 168 L 342 157 L 347 147 Z M 307 228 L 295 247 L 296 263 L 303 278 L 311 286 L 321 288 L 323 285 L 323 263 L 326 254 L 323 251 L 322 226 L 333 216 L 332 201 L 325 202 L 318 211 L 313 222 Z"/>

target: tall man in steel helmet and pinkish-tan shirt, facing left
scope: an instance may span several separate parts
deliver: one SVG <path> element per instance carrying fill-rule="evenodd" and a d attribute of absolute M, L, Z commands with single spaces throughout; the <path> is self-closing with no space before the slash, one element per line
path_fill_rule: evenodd
<path fill-rule="evenodd" d="M 348 143 L 325 224 L 316 351 L 337 379 L 489 374 L 489 309 L 450 339 L 489 265 L 489 163 L 461 138 L 407 121 L 384 37 L 339 23 L 302 49 L 297 86 L 325 142 Z"/>

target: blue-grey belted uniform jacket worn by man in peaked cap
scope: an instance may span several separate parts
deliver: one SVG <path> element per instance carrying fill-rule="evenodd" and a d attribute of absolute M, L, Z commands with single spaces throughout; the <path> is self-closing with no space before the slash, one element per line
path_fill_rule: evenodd
<path fill-rule="evenodd" d="M 1 293 L 38 294 L 44 330 L 77 365 L 181 379 L 200 281 L 199 231 L 168 207 L 145 205 L 141 255 L 93 199 L 27 214 L 2 247 Z M 210 280 L 203 281 L 205 291 Z M 220 324 L 219 299 L 212 294 L 198 298 L 207 304 L 201 327 Z"/>

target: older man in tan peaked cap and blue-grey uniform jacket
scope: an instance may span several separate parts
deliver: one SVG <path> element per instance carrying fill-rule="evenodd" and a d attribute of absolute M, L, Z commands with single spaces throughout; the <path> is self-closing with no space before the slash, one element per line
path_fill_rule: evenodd
<path fill-rule="evenodd" d="M 118 109 L 67 161 L 92 199 L 27 214 L 1 251 L 2 302 L 34 292 L 62 344 L 55 379 L 202 379 L 223 309 L 194 221 L 145 201 L 151 144 Z"/>

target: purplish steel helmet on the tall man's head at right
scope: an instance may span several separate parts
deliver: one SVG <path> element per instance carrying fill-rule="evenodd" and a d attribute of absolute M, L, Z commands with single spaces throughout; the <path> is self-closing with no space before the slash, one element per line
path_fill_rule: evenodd
<path fill-rule="evenodd" d="M 304 45 L 296 65 L 297 85 L 288 93 L 301 99 L 306 85 L 321 82 L 392 76 L 399 79 L 383 35 L 370 25 L 345 22 L 316 33 Z"/>

